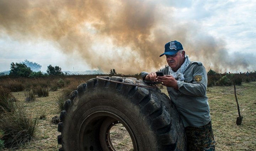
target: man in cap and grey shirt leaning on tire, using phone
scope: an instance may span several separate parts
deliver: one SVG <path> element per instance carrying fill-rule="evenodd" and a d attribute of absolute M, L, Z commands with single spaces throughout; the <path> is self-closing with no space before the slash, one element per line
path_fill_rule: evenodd
<path fill-rule="evenodd" d="M 207 89 L 207 73 L 201 62 L 190 61 L 178 41 L 165 44 L 168 65 L 155 72 L 142 72 L 145 82 L 161 83 L 167 87 L 173 104 L 180 113 L 187 135 L 187 150 L 215 150 Z"/>

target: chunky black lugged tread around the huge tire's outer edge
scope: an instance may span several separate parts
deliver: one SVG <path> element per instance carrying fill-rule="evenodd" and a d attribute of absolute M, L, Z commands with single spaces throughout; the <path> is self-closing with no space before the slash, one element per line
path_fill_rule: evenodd
<path fill-rule="evenodd" d="M 133 83 L 135 80 L 108 76 L 103 78 L 127 83 Z M 171 114 L 169 114 L 170 111 L 166 110 L 165 105 L 169 105 L 171 108 L 175 108 L 175 106 L 171 104 L 171 101 L 166 94 L 161 93 L 160 89 L 158 88 L 155 89 L 125 85 L 97 78 L 87 80 L 86 83 L 80 84 L 77 87 L 77 90 L 74 90 L 70 94 L 70 99 L 66 100 L 64 104 L 65 110 L 60 113 L 60 120 L 63 122 L 60 122 L 58 124 L 58 132 L 63 133 L 65 126 L 65 117 L 68 115 L 66 111 L 69 111 L 70 107 L 74 106 L 74 99 L 85 97 L 85 93 L 90 93 L 90 91 L 98 88 L 104 89 L 104 91 L 107 92 L 114 91 L 114 93 L 118 93 L 124 95 L 124 97 L 131 98 L 131 102 L 140 108 L 141 114 L 144 114 L 145 117 L 149 117 L 149 124 L 151 124 L 152 129 L 155 130 L 156 135 L 159 138 L 157 143 L 161 144 L 160 146 L 162 146 L 159 150 L 176 150 L 178 141 L 177 137 L 179 136 L 177 136 L 177 132 L 175 131 L 176 127 L 172 124 L 172 120 L 174 119 L 171 117 Z M 162 102 L 164 102 L 165 100 L 169 100 L 169 102 L 165 102 L 163 104 Z M 181 118 L 178 117 L 178 120 L 181 121 Z M 58 135 L 58 144 L 63 145 L 62 143 L 62 135 Z M 64 150 L 63 146 L 59 150 Z"/>

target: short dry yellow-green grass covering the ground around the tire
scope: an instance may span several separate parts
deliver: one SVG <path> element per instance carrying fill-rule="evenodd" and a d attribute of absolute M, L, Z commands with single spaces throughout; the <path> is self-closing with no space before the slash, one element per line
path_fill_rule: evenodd
<path fill-rule="evenodd" d="M 50 91 L 48 97 L 37 97 L 36 101 L 33 102 L 25 101 L 25 91 L 12 93 L 28 113 L 32 115 L 39 113 L 40 115 L 45 112 L 46 114 L 46 119 L 39 120 L 39 127 L 34 140 L 21 146 L 17 151 L 56 151 L 61 147 L 57 143 L 57 136 L 60 134 L 57 132 L 58 126 L 52 124 L 51 120 L 52 117 L 60 114 L 55 100 L 62 91 L 63 89 Z M 167 93 L 165 88 L 161 88 L 161 91 Z M 241 116 L 243 116 L 241 125 L 236 125 L 238 109 L 234 86 L 214 86 L 207 89 L 217 151 L 256 150 L 256 82 L 242 83 L 242 85 L 236 86 L 236 93 Z M 122 125 L 118 126 L 117 129 L 123 130 Z M 119 133 L 118 130 L 112 133 L 119 137 L 114 140 L 117 144 L 116 149 L 119 151 L 130 150 L 130 147 L 127 147 L 130 141 L 125 133 L 122 134 L 123 137 L 117 133 Z M 122 142 L 118 142 L 118 139 Z"/>

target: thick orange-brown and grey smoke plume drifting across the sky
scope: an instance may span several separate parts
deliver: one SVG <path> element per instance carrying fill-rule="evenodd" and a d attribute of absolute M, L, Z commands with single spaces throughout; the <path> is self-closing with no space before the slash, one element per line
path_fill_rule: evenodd
<path fill-rule="evenodd" d="M 0 0 L 0 33 L 23 43 L 52 41 L 63 53 L 79 54 L 87 66 L 105 72 L 156 71 L 166 64 L 159 55 L 171 40 L 180 41 L 191 60 L 201 61 L 207 71 L 255 70 L 255 54 L 229 52 L 224 40 L 201 30 L 196 21 L 175 17 L 175 7 L 161 2 Z"/>

